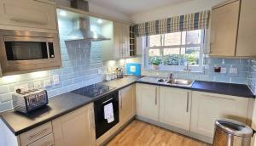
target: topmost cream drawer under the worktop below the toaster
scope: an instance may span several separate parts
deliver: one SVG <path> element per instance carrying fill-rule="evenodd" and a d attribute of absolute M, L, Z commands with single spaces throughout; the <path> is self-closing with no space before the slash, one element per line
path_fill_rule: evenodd
<path fill-rule="evenodd" d="M 36 140 L 43 138 L 52 132 L 51 122 L 48 122 L 42 126 L 38 126 L 29 132 L 25 132 L 20 135 L 21 146 L 25 146 L 29 143 L 33 143 Z"/>

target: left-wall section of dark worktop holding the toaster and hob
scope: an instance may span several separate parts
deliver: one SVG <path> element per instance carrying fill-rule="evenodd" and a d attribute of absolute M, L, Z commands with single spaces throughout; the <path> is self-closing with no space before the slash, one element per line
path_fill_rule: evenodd
<path fill-rule="evenodd" d="M 125 76 L 122 79 L 113 81 L 102 81 L 102 84 L 116 87 L 108 93 L 118 91 L 123 87 L 127 87 L 143 76 Z M 32 112 L 30 115 L 22 115 L 14 110 L 8 110 L 1 113 L 3 122 L 17 136 L 23 132 L 27 132 L 36 126 L 43 125 L 48 121 L 65 115 L 73 110 L 94 102 L 96 99 L 102 98 L 108 93 L 104 93 L 95 98 L 88 98 L 76 93 L 64 93 L 53 98 L 49 98 L 49 104 L 42 109 Z"/>

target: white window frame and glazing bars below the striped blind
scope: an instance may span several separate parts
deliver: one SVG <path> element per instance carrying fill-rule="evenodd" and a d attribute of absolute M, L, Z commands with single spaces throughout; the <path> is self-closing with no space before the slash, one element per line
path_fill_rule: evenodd
<path fill-rule="evenodd" d="M 187 32 L 187 31 L 186 31 Z M 149 57 L 149 50 L 150 49 L 160 49 L 160 56 L 163 56 L 164 48 L 193 48 L 193 47 L 200 47 L 200 56 L 199 56 L 199 65 L 189 65 L 189 70 L 195 70 L 195 71 L 201 71 L 203 69 L 203 53 L 204 49 L 206 48 L 206 30 L 201 30 L 201 43 L 199 44 L 182 44 L 182 32 L 181 33 L 181 45 L 172 45 L 172 46 L 162 46 L 164 43 L 164 37 L 165 34 L 160 34 L 160 43 L 161 46 L 154 46 L 154 47 L 148 47 L 149 46 L 149 39 L 148 36 L 145 37 L 145 55 L 144 55 L 144 65 L 146 68 L 150 68 L 152 65 L 148 64 L 148 57 Z M 187 43 L 187 39 L 185 39 Z M 181 49 L 180 49 L 181 51 Z M 181 54 L 181 53 L 179 53 Z M 160 65 L 160 70 L 185 70 L 187 68 L 186 65 Z"/>

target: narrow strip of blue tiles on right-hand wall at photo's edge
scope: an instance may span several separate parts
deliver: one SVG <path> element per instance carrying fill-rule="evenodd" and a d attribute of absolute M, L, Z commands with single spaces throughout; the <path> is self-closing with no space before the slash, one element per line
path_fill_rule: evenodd
<path fill-rule="evenodd" d="M 256 59 L 250 60 L 248 87 L 250 87 L 253 93 L 256 94 Z"/>

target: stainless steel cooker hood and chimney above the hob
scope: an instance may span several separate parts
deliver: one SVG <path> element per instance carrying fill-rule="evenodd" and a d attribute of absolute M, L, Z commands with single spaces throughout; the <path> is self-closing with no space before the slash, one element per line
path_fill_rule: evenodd
<path fill-rule="evenodd" d="M 84 10 L 89 12 L 88 2 L 84 0 L 72 0 L 71 1 L 72 8 L 78 8 L 80 10 Z M 105 41 L 110 40 L 101 34 L 98 34 L 94 31 L 90 31 L 90 20 L 89 18 L 79 17 L 78 19 L 73 20 L 73 31 L 71 31 L 67 35 L 68 41 Z"/>

